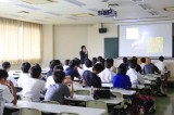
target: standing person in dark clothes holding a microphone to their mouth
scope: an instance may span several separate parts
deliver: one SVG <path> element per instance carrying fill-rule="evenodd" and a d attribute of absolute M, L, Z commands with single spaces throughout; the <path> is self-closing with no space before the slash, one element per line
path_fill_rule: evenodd
<path fill-rule="evenodd" d="M 88 59 L 88 51 L 85 46 L 80 47 L 82 51 L 79 52 L 80 56 L 80 64 L 83 65 L 85 63 L 85 60 Z"/>

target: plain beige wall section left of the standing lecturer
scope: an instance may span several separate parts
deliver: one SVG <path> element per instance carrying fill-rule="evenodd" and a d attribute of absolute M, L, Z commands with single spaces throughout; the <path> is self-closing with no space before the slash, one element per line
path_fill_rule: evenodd
<path fill-rule="evenodd" d="M 79 58 L 80 46 L 87 46 L 88 26 L 54 26 L 54 59 Z"/>

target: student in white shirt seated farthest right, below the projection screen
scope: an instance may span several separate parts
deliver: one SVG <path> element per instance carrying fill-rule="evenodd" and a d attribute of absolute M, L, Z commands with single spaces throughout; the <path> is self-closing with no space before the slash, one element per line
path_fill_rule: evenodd
<path fill-rule="evenodd" d="M 164 56 L 159 56 L 159 61 L 154 64 L 161 72 L 161 74 L 164 74 L 166 71 L 166 66 L 164 64 Z"/>

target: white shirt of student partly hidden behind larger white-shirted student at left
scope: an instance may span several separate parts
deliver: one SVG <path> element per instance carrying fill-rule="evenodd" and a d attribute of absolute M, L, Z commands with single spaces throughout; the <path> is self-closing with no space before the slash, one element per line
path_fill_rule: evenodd
<path fill-rule="evenodd" d="M 27 80 L 26 78 L 29 78 L 29 77 L 30 77 L 29 74 L 27 74 L 27 73 L 22 73 L 22 74 L 20 75 L 20 78 L 17 79 L 17 86 L 21 87 L 21 88 L 23 88 L 23 81 L 24 81 L 24 80 Z"/>

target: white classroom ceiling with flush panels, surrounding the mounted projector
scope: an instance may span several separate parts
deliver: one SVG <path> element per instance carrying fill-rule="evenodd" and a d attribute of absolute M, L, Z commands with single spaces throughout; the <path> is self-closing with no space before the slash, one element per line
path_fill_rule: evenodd
<path fill-rule="evenodd" d="M 109 8 L 115 17 L 98 16 Z M 40 24 L 174 21 L 174 0 L 0 0 L 0 16 Z"/>

